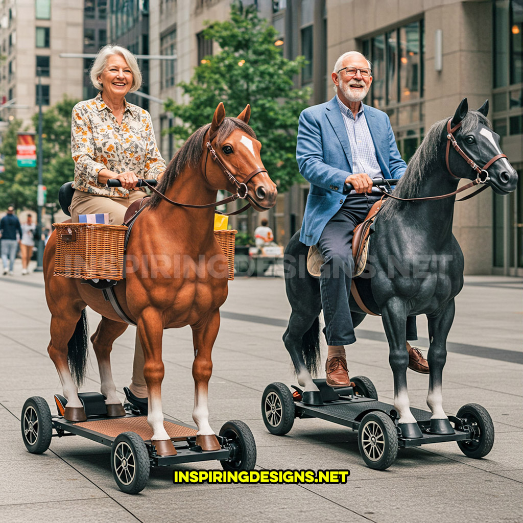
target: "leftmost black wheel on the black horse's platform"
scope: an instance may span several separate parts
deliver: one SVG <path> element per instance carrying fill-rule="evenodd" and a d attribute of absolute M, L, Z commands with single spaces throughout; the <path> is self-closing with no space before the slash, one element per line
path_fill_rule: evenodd
<path fill-rule="evenodd" d="M 271 434 L 287 434 L 294 424 L 295 412 L 287 385 L 275 382 L 266 386 L 261 396 L 261 416 Z"/>

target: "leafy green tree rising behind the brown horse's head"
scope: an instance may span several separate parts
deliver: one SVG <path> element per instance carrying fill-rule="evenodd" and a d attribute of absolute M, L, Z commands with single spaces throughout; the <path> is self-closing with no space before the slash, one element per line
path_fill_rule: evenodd
<path fill-rule="evenodd" d="M 285 191 L 301 177 L 295 160 L 296 134 L 300 112 L 308 106 L 309 88 L 295 89 L 293 77 L 305 65 L 303 56 L 283 58 L 274 45 L 278 32 L 259 18 L 256 7 L 231 5 L 230 20 L 206 22 L 203 32 L 221 51 L 206 56 L 190 82 L 181 82 L 187 104 L 169 99 L 167 111 L 181 123 L 169 132 L 177 141 L 186 140 L 209 123 L 223 101 L 229 116 L 237 116 L 251 104 L 252 126 L 263 145 L 262 159 L 271 178 Z"/>

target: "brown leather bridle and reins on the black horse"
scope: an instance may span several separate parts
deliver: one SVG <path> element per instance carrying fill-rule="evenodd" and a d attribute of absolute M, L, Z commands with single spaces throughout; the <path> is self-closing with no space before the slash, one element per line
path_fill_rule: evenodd
<path fill-rule="evenodd" d="M 381 187 L 378 187 L 381 190 L 381 192 L 383 192 L 383 194 L 385 194 L 389 198 L 393 198 L 394 200 L 401 200 L 401 201 L 442 200 L 444 198 L 450 198 L 451 196 L 457 195 L 459 192 L 462 192 L 464 190 L 470 189 L 471 187 L 474 187 L 475 185 L 484 184 L 488 180 L 490 180 L 490 176 L 488 176 L 488 170 L 487 170 L 488 167 L 490 167 L 494 162 L 496 162 L 500 158 L 506 158 L 507 155 L 506 154 L 496 154 L 483 167 L 480 167 L 479 165 L 477 165 L 474 162 L 474 160 L 472 160 L 472 158 L 470 158 L 469 156 L 467 156 L 467 154 L 465 154 L 463 152 L 461 147 L 458 145 L 458 142 L 456 141 L 456 138 L 454 138 L 453 133 L 456 132 L 461 127 L 461 122 L 456 124 L 456 126 L 451 127 L 451 121 L 452 121 L 452 118 L 450 118 L 449 121 L 447 122 L 447 147 L 446 147 L 446 151 L 445 151 L 445 163 L 447 165 L 447 170 L 454 178 L 457 178 L 458 180 L 461 179 L 459 176 L 456 176 L 450 170 L 449 152 L 450 152 L 450 145 L 452 144 L 452 147 L 454 148 L 454 150 L 456 150 L 456 152 L 465 160 L 465 162 L 467 162 L 470 165 L 470 167 L 472 167 L 472 169 L 475 170 L 475 172 L 477 173 L 477 178 L 475 180 L 471 181 L 469 184 L 464 185 L 463 187 L 461 187 L 459 189 L 456 189 L 455 191 L 449 192 L 446 195 L 426 196 L 424 198 L 400 198 L 398 196 L 393 196 L 389 192 L 386 192 L 383 189 L 381 189 Z M 463 198 L 460 198 L 459 200 L 456 200 L 456 201 L 468 200 L 469 198 L 472 198 L 473 196 L 479 194 L 481 191 L 484 191 L 487 187 L 488 187 L 487 185 L 484 185 L 483 187 L 479 187 L 477 190 L 472 192 L 472 194 L 467 195 L 467 196 L 465 196 Z"/>

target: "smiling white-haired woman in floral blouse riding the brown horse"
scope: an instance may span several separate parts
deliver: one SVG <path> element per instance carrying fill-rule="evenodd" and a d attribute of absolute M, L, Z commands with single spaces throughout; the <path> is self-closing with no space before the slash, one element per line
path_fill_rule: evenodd
<path fill-rule="evenodd" d="M 149 112 L 125 99 L 142 83 L 135 56 L 123 47 L 105 46 L 96 56 L 90 78 L 100 92 L 73 108 L 75 191 L 69 210 L 73 222 L 78 221 L 78 214 L 107 212 L 109 223 L 120 224 L 130 204 L 144 196 L 135 189 L 138 178 L 160 178 L 165 161 L 156 146 Z M 121 187 L 107 187 L 111 178 L 120 180 Z M 143 363 L 137 336 L 128 397 L 138 404 L 140 398 L 145 399 L 142 405 L 146 405 Z"/>

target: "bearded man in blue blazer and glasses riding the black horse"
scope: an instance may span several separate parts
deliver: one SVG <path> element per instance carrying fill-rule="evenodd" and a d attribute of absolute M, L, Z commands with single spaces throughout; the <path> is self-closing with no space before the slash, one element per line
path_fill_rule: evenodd
<path fill-rule="evenodd" d="M 317 244 L 323 255 L 320 291 L 328 345 L 325 371 L 331 386 L 350 383 L 345 345 L 356 341 L 349 310 L 354 270 L 351 245 L 355 226 L 380 197 L 372 178 L 400 178 L 406 164 L 397 150 L 389 117 L 361 103 L 372 83 L 370 62 L 358 51 L 342 54 L 332 79 L 336 96 L 305 109 L 299 120 L 296 158 L 311 189 L 300 241 Z M 345 193 L 345 184 L 354 190 Z M 415 318 L 407 339 L 417 339 Z M 420 351 L 411 347 L 409 367 L 428 372 Z"/>

